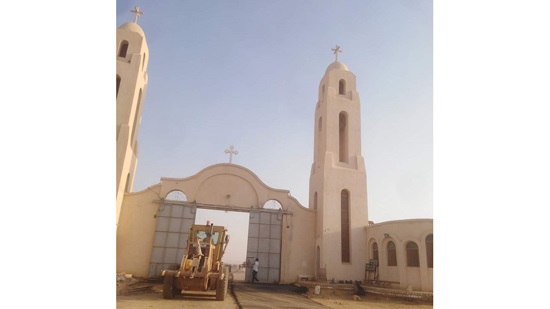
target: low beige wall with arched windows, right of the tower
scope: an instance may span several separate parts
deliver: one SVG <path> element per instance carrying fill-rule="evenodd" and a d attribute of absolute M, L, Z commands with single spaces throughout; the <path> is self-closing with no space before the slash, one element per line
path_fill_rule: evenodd
<path fill-rule="evenodd" d="M 433 291 L 433 268 L 427 266 L 426 237 L 433 235 L 433 219 L 388 221 L 367 226 L 369 260 L 372 259 L 372 244 L 378 244 L 380 280 L 395 281 L 393 287 L 416 291 Z M 388 234 L 385 237 L 384 234 Z M 387 244 L 393 241 L 397 251 L 397 266 L 388 266 Z M 406 245 L 414 241 L 418 245 L 420 267 L 407 267 Z"/>

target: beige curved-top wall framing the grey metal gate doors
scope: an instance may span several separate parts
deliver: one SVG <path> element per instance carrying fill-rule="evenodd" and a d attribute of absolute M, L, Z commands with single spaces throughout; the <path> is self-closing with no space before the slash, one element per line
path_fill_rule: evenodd
<path fill-rule="evenodd" d="M 161 198 L 174 190 L 186 193 L 189 202 L 230 206 L 243 212 L 277 200 L 291 213 L 283 217 L 280 282 L 295 282 L 298 275 L 313 276 L 315 212 L 300 205 L 288 190 L 271 188 L 235 164 L 209 166 L 188 178 L 162 178 L 160 184 L 141 192 L 126 193 L 117 231 L 117 272 L 148 275 L 155 214 Z"/>

